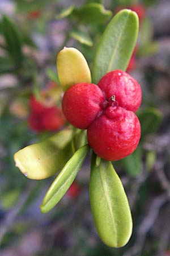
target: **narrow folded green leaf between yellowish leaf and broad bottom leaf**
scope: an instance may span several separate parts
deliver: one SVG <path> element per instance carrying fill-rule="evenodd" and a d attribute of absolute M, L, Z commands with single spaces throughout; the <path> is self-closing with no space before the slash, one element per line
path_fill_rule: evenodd
<path fill-rule="evenodd" d="M 65 167 L 63 167 L 62 171 L 46 192 L 44 200 L 40 206 L 41 212 L 49 212 L 49 210 L 62 199 L 70 185 L 73 183 L 89 150 L 90 147 L 88 145 L 80 147 L 66 163 Z"/>

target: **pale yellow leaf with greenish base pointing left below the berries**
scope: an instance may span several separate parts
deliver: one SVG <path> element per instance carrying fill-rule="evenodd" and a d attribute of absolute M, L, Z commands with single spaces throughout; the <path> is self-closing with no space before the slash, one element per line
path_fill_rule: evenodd
<path fill-rule="evenodd" d="M 56 174 L 73 154 L 72 135 L 71 129 L 64 129 L 45 141 L 24 147 L 14 155 L 16 166 L 29 179 L 41 180 Z"/>

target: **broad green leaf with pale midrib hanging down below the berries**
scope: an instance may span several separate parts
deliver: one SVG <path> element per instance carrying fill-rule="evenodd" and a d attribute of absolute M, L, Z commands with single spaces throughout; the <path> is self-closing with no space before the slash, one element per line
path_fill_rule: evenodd
<path fill-rule="evenodd" d="M 91 164 L 90 203 L 97 232 L 105 245 L 126 245 L 133 224 L 124 187 L 111 162 L 101 159 L 96 166 L 95 154 Z"/>

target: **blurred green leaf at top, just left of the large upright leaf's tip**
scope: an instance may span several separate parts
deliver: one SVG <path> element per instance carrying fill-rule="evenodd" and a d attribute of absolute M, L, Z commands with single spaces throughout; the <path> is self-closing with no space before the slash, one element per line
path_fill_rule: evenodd
<path fill-rule="evenodd" d="M 74 9 L 73 15 L 82 23 L 103 24 L 111 18 L 112 11 L 105 10 L 100 3 L 87 3 L 80 9 Z"/>

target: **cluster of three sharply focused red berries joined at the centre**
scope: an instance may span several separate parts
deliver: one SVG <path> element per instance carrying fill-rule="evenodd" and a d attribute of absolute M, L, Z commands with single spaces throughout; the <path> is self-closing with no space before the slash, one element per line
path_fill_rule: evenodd
<path fill-rule="evenodd" d="M 130 155 L 139 143 L 141 125 L 134 112 L 142 101 L 141 86 L 128 73 L 107 73 L 98 85 L 79 83 L 69 88 L 62 100 L 68 122 L 87 129 L 95 153 L 106 160 Z"/>

